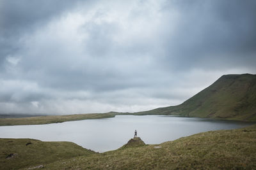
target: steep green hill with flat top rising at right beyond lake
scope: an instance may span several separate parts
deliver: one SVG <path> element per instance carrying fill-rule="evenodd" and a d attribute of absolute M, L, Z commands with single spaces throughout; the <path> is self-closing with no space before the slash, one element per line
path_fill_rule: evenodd
<path fill-rule="evenodd" d="M 256 122 L 256 74 L 228 74 L 178 106 L 138 115 L 181 115 Z"/>

